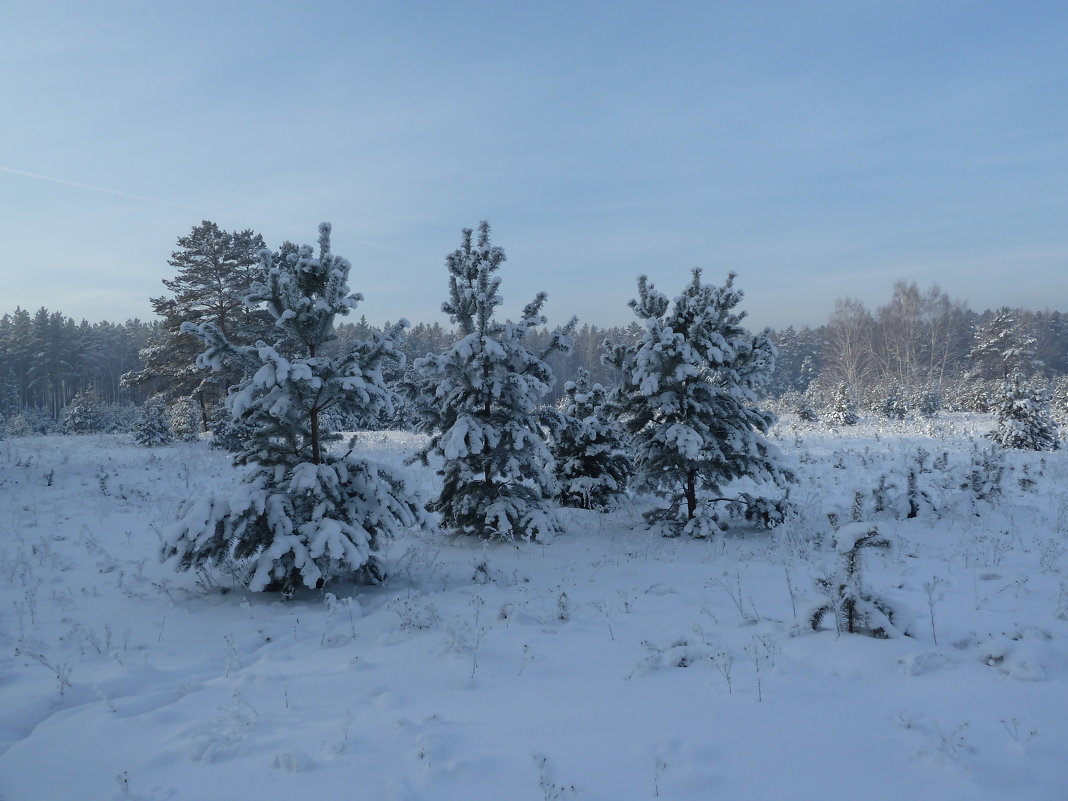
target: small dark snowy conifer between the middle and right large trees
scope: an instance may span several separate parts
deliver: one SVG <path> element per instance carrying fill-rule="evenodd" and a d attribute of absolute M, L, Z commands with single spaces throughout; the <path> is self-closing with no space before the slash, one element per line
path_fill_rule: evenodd
<path fill-rule="evenodd" d="M 557 499 L 564 506 L 604 509 L 624 496 L 633 474 L 623 433 L 606 411 L 608 392 L 579 367 L 564 384 L 563 413 L 553 426 Z"/>

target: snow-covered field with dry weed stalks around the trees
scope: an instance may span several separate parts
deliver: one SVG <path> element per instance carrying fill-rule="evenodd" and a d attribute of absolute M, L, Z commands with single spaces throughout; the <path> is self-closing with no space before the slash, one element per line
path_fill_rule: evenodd
<path fill-rule="evenodd" d="M 986 427 L 785 421 L 775 531 L 664 539 L 635 501 L 547 544 L 413 533 L 387 584 L 290 602 L 158 563 L 234 481 L 206 444 L 0 442 L 0 799 L 1063 801 L 1068 454 L 979 499 Z M 363 441 L 433 493 L 414 436 Z M 805 623 L 855 492 L 908 637 Z"/>

